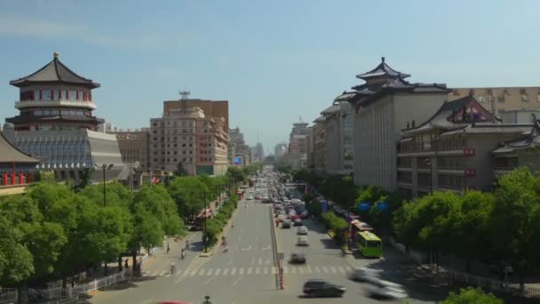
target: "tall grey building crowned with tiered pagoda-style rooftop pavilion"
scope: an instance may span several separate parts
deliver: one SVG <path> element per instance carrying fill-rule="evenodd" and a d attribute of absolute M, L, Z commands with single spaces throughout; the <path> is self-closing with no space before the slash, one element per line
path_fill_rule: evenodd
<path fill-rule="evenodd" d="M 385 58 L 356 76 L 365 84 L 344 92 L 354 111 L 354 183 L 397 190 L 396 145 L 407 121 L 425 121 L 448 99 L 445 84 L 412 84 L 409 75 L 390 68 Z"/>

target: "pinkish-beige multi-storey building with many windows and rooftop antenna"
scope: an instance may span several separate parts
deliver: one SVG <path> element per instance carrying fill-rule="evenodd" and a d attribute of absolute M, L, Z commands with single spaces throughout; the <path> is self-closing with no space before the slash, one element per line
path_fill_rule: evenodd
<path fill-rule="evenodd" d="M 181 165 L 189 175 L 223 175 L 227 170 L 228 129 L 222 116 L 206 116 L 202 108 L 171 107 L 150 119 L 150 167 L 174 172 Z"/>

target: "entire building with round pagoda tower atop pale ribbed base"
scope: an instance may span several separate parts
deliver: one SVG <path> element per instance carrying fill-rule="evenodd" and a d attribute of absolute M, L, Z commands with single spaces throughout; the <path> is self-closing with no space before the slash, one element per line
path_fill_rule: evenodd
<path fill-rule="evenodd" d="M 20 89 L 15 108 L 20 115 L 6 118 L 4 135 L 13 146 L 42 162 L 41 170 L 58 180 L 78 180 L 85 169 L 91 181 L 119 178 L 125 169 L 115 135 L 98 132 L 104 121 L 92 116 L 96 104 L 91 91 L 99 87 L 75 74 L 54 53 L 35 73 L 10 82 Z"/>

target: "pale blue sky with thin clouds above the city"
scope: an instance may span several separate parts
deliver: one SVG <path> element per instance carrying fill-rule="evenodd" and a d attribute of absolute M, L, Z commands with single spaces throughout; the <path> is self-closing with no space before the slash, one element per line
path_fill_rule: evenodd
<path fill-rule="evenodd" d="M 0 2 L 0 119 L 9 81 L 60 60 L 101 87 L 95 115 L 147 127 L 163 100 L 229 100 L 230 127 L 266 152 L 312 123 L 381 57 L 409 80 L 539 85 L 540 1 Z"/>

